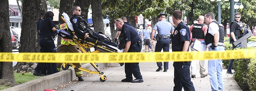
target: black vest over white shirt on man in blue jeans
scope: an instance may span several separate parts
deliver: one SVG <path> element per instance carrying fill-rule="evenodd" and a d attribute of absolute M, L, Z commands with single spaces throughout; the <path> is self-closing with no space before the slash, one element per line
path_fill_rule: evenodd
<path fill-rule="evenodd" d="M 219 26 L 219 42 L 220 43 L 224 43 L 224 27 L 222 26 L 222 24 L 220 24 L 217 21 L 212 21 L 213 23 L 216 23 Z M 208 33 L 209 28 L 207 30 L 207 33 L 205 35 L 205 43 L 206 45 L 210 44 L 210 43 L 214 43 L 214 36 L 211 35 L 210 33 Z"/>

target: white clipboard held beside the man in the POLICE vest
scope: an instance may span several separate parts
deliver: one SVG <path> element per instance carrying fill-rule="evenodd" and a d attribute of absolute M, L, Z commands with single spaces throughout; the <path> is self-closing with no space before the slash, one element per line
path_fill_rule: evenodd
<path fill-rule="evenodd" d="M 207 45 L 206 44 L 201 44 L 201 41 L 195 38 L 195 41 L 193 42 L 193 45 L 191 45 L 193 49 L 196 51 L 205 51 Z"/>

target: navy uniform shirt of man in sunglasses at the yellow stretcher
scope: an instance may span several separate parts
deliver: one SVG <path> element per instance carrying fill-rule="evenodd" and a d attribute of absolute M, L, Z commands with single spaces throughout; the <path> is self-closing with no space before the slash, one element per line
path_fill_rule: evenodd
<path fill-rule="evenodd" d="M 70 18 L 70 22 L 72 23 L 72 26 L 73 26 L 73 29 L 76 33 L 77 36 L 80 36 L 80 37 L 84 37 L 84 33 L 81 32 L 78 27 L 79 23 L 81 22 L 79 16 L 76 16 L 76 15 L 72 15 L 73 17 Z"/>

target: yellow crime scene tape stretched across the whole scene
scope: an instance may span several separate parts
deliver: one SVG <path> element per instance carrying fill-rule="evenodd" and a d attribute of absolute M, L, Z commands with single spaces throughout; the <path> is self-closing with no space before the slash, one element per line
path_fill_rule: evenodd
<path fill-rule="evenodd" d="M 155 53 L 0 53 L 0 62 L 38 63 L 138 63 L 191 61 L 211 59 L 242 59 L 256 57 L 254 50 Z"/>

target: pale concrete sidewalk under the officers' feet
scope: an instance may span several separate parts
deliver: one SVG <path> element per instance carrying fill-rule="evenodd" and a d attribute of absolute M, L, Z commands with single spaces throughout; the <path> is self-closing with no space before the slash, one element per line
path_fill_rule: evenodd
<path fill-rule="evenodd" d="M 197 62 L 197 77 L 192 78 L 196 91 L 210 91 L 209 77 L 200 78 L 199 62 Z M 114 67 L 101 69 L 107 76 L 105 82 L 100 82 L 99 75 L 90 75 L 84 77 L 83 82 L 77 82 L 73 85 L 62 87 L 57 91 L 173 91 L 174 87 L 174 67 L 173 62 L 169 62 L 167 72 L 155 72 L 156 63 L 140 63 L 140 70 L 143 76 L 143 83 L 121 82 L 125 78 L 124 66 L 115 65 Z M 206 65 L 207 66 L 207 65 Z M 208 68 L 208 67 L 206 67 Z M 231 75 L 226 75 L 226 69 L 223 70 L 224 91 L 242 91 Z M 134 78 L 135 79 L 135 78 Z"/>

